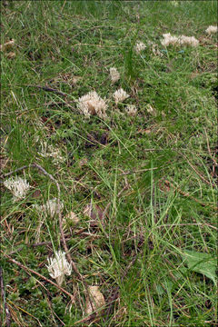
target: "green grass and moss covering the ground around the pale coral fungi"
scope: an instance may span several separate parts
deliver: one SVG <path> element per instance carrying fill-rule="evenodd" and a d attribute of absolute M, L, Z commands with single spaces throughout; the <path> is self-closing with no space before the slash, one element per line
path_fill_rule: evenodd
<path fill-rule="evenodd" d="M 99 319 L 84 323 L 215 326 L 217 39 L 205 29 L 217 24 L 216 2 L 7 3 L 1 4 L 1 44 L 15 39 L 15 46 L 1 53 L 2 173 L 40 164 L 60 184 L 63 219 L 71 211 L 80 218 L 76 225 L 66 220 L 67 246 L 106 303 Z M 193 35 L 200 45 L 164 48 L 169 32 Z M 138 40 L 146 45 L 140 54 L 134 51 Z M 116 84 L 110 67 L 121 74 Z M 130 97 L 116 106 L 112 95 L 120 87 Z M 105 120 L 77 110 L 78 98 L 90 91 L 107 99 Z M 126 104 L 136 105 L 134 117 L 125 113 Z M 43 142 L 63 160 L 40 155 Z M 72 272 L 63 285 L 72 303 L 5 256 L 52 280 L 47 257 L 63 250 L 58 217 L 32 207 L 57 197 L 55 184 L 32 167 L 15 175 L 32 187 L 13 202 L 4 178 L 0 184 L 0 264 L 11 326 L 74 326 L 85 317 L 78 276 Z M 90 203 L 101 211 L 107 206 L 104 220 L 84 214 Z M 5 325 L 4 302 L 1 315 Z"/>

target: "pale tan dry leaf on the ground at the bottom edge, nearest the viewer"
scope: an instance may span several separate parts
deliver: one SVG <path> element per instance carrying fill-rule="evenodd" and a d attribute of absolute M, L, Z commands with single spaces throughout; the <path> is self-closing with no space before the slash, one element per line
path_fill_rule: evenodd
<path fill-rule="evenodd" d="M 105 305 L 104 295 L 99 291 L 99 286 L 88 286 L 89 297 L 85 302 L 85 314 L 91 314 L 100 310 Z M 91 304 L 91 302 L 92 304 Z"/>

